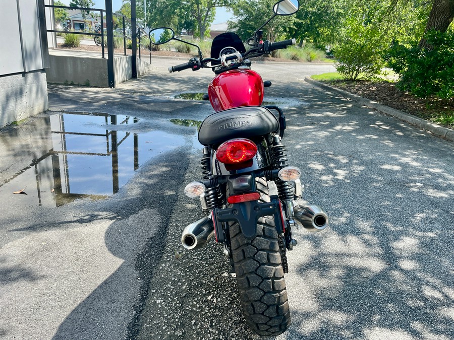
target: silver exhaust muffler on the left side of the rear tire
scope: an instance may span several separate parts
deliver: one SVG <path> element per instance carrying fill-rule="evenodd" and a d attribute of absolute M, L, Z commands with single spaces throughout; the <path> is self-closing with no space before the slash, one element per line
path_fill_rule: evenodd
<path fill-rule="evenodd" d="M 181 243 L 186 249 L 200 249 L 213 235 L 213 221 L 209 217 L 204 217 L 185 228 L 181 236 Z"/>

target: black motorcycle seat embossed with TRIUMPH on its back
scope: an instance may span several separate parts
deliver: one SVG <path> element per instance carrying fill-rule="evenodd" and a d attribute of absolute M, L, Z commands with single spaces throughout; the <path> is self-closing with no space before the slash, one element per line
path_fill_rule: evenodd
<path fill-rule="evenodd" d="M 263 106 L 240 106 L 213 113 L 199 129 L 199 142 L 213 145 L 233 138 L 251 138 L 276 132 L 279 123 Z"/>

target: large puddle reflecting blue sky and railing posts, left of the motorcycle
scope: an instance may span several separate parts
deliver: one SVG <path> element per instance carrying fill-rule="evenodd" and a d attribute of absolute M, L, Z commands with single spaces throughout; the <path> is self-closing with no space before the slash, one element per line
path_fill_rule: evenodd
<path fill-rule="evenodd" d="M 185 143 L 180 135 L 157 130 L 129 132 L 127 125 L 137 122 L 134 117 L 103 113 L 43 118 L 39 127 L 43 131 L 35 132 L 43 140 L 33 146 L 35 159 L 0 184 L 0 197 L 12 205 L 47 207 L 77 198 L 105 198 L 118 192 L 145 161 Z M 13 194 L 20 189 L 27 195 Z"/>

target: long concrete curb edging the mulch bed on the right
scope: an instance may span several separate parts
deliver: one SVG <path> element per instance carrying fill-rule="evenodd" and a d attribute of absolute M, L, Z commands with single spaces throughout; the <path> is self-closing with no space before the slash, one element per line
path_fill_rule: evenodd
<path fill-rule="evenodd" d="M 443 138 L 447 139 L 448 141 L 454 142 L 454 130 L 452 130 L 450 128 L 439 126 L 439 125 L 431 123 L 431 122 L 429 122 L 429 121 L 427 121 L 425 119 L 415 117 L 415 116 L 413 116 L 411 114 L 408 114 L 408 113 L 393 109 L 393 108 L 391 108 L 389 106 L 386 106 L 386 105 L 383 105 L 383 104 L 379 104 L 377 102 L 374 102 L 374 101 L 371 101 L 369 99 L 360 97 L 360 96 L 355 95 L 353 93 L 350 93 L 350 92 L 347 92 L 347 91 L 344 91 L 344 90 L 340 90 L 340 89 L 332 88 L 332 87 L 330 87 L 330 86 L 328 86 L 326 84 L 317 82 L 316 80 L 313 80 L 310 77 L 306 77 L 304 79 L 304 81 L 306 83 L 318 86 L 318 87 L 320 87 L 320 88 L 322 88 L 324 90 L 327 90 L 329 92 L 341 95 L 342 97 L 351 99 L 351 100 L 353 100 L 353 101 L 355 101 L 357 103 L 360 103 L 362 105 L 365 105 L 365 106 L 368 106 L 368 107 L 372 107 L 372 108 L 374 108 L 374 109 L 376 109 L 378 111 L 381 111 L 383 113 L 386 113 L 386 114 L 388 114 L 390 116 L 399 118 L 400 120 L 403 120 L 403 121 L 405 121 L 407 123 L 419 126 L 419 127 L 423 128 L 424 130 L 432 132 L 434 135 L 437 135 L 439 137 L 443 137 Z"/>

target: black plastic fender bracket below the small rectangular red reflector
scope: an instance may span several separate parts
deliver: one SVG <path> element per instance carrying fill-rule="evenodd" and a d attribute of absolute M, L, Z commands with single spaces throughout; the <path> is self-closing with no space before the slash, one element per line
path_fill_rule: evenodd
<path fill-rule="evenodd" d="M 257 221 L 259 217 L 270 215 L 274 216 L 276 227 L 279 225 L 281 228 L 281 219 L 277 218 L 280 216 L 278 199 L 271 199 L 271 202 L 265 203 L 258 201 L 235 203 L 232 208 L 216 208 L 214 210 L 216 224 L 220 225 L 222 222 L 238 222 L 241 232 L 248 239 L 257 236 Z"/>

